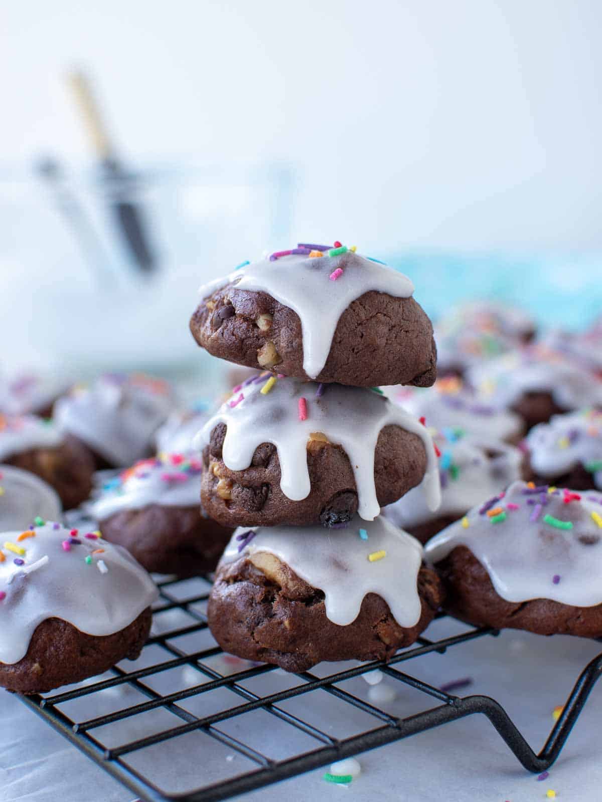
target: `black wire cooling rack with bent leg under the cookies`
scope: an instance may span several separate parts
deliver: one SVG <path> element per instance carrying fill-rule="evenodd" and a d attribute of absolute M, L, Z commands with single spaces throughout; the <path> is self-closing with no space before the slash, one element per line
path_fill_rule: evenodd
<path fill-rule="evenodd" d="M 160 624 L 158 633 L 156 627 L 153 629 L 152 637 L 144 646 L 142 657 L 132 664 L 132 669 L 121 664 L 112 669 L 109 678 L 96 678 L 92 683 L 73 690 L 46 696 L 21 697 L 23 703 L 41 715 L 84 754 L 148 802 L 209 802 L 228 799 L 475 713 L 486 715 L 524 768 L 530 772 L 543 772 L 558 757 L 602 671 L 600 654 L 580 674 L 559 719 L 538 754 L 531 749 L 504 708 L 494 699 L 482 695 L 460 698 L 401 671 L 402 663 L 421 655 L 432 652 L 443 654 L 446 650 L 475 638 L 498 634 L 487 628 L 469 628 L 462 634 L 437 641 L 419 638 L 416 644 L 386 663 L 364 663 L 324 677 L 319 677 L 312 671 L 287 675 L 291 687 L 262 695 L 251 690 L 248 681 L 259 678 L 262 674 L 278 672 L 278 669 L 275 666 L 228 658 L 215 646 L 210 638 L 204 612 L 210 585 L 209 581 L 201 582 L 201 593 L 189 593 L 187 589 L 193 586 L 189 585 L 189 581 L 169 580 L 160 583 L 161 599 L 157 603 L 153 620 L 161 622 L 167 616 L 165 620 L 168 626 Z M 174 620 L 173 614 L 176 614 L 176 618 L 180 614 L 185 619 L 184 626 L 169 628 L 169 622 Z M 199 650 L 199 646 L 205 648 Z M 224 662 L 228 659 L 230 664 Z M 341 683 L 346 680 L 376 669 L 387 677 L 422 692 L 429 703 L 434 700 L 437 704 L 417 714 L 396 718 L 341 687 Z M 188 671 L 185 683 L 187 687 L 171 690 L 174 687 L 173 676 L 182 670 Z M 273 678 L 276 676 L 272 675 Z M 282 678 L 282 672 L 280 677 Z M 163 678 L 164 682 L 159 682 L 159 678 Z M 233 695 L 237 695 L 240 703 L 224 704 L 218 691 L 228 691 L 232 699 Z M 312 724 L 307 720 L 309 716 L 304 715 L 302 718 L 286 709 L 290 700 L 302 699 L 307 700 L 304 709 L 309 711 L 311 695 L 319 691 L 325 691 L 336 697 L 340 703 L 362 711 L 373 726 L 368 726 L 360 734 L 339 739 L 324 731 L 327 727 L 321 728 Z M 214 704 L 214 712 L 208 714 L 206 702 L 212 698 L 210 695 L 216 693 L 221 704 Z M 128 703 L 131 701 L 128 694 L 135 696 L 134 703 Z M 100 699 L 103 700 L 102 704 Z M 194 705 L 191 705 L 195 700 L 200 701 L 196 712 Z M 109 711 L 103 712 L 107 701 Z M 116 709 L 111 710 L 111 707 Z M 100 715 L 82 716 L 82 709 L 86 713 Z M 273 759 L 262 754 L 249 739 L 243 740 L 228 732 L 227 725 L 232 719 L 252 711 L 262 711 L 262 715 L 270 717 L 271 723 L 278 723 L 279 727 L 284 728 L 284 740 L 292 743 L 300 741 L 303 748 L 285 759 Z M 122 743 L 120 735 L 112 735 L 116 727 L 125 727 L 129 735 L 132 732 L 136 734 L 134 724 L 138 720 L 141 722 L 137 728 L 139 737 L 130 737 Z M 173 726 L 169 726 L 170 724 Z M 205 739 L 204 747 L 197 754 L 198 786 L 193 791 L 165 793 L 153 782 L 148 771 L 140 769 L 141 764 L 136 768 L 136 755 L 152 750 L 155 746 L 165 749 L 167 743 L 191 734 Z M 222 767 L 222 776 L 216 777 L 208 772 L 207 767 L 211 761 L 210 757 L 205 759 L 205 755 L 210 755 L 210 749 L 207 748 L 210 744 L 230 753 L 226 761 L 215 761 L 215 764 Z M 189 764 L 193 754 L 190 744 L 185 747 L 185 752 Z M 153 759 L 154 755 L 155 753 Z M 237 763 L 234 757 L 241 757 L 242 761 Z M 160 756 L 157 756 L 157 761 L 161 762 Z M 241 762 L 242 771 L 239 770 Z M 145 765 L 148 767 L 148 761 Z M 224 767 L 229 768 L 229 771 Z"/>

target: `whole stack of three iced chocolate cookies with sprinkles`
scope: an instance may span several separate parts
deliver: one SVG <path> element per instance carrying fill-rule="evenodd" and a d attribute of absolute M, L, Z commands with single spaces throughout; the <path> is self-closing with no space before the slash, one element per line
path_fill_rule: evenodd
<path fill-rule="evenodd" d="M 420 543 L 380 516 L 421 485 L 437 447 L 379 385 L 429 387 L 433 327 L 402 273 L 339 242 L 299 244 L 201 288 L 199 345 L 250 375 L 197 435 L 201 503 L 238 527 L 209 626 L 243 658 L 307 670 L 412 643 L 441 603 Z"/>

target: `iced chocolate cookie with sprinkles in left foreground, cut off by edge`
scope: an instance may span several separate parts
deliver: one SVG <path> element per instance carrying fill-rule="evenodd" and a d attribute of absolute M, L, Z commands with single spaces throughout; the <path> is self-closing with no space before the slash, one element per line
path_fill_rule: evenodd
<path fill-rule="evenodd" d="M 157 589 L 96 533 L 36 521 L 2 533 L 0 685 L 33 694 L 136 659 Z"/>

